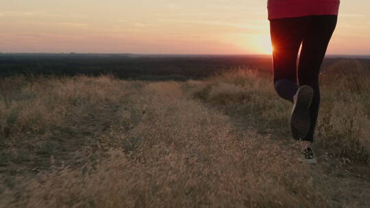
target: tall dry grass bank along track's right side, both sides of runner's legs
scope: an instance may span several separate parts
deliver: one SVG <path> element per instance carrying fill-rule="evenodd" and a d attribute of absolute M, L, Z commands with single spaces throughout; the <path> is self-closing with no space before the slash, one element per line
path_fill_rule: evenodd
<path fill-rule="evenodd" d="M 357 60 L 340 60 L 321 74 L 321 109 L 316 141 L 349 161 L 370 161 L 370 69 Z M 207 103 L 254 118 L 254 127 L 289 136 L 291 103 L 278 98 L 271 76 L 258 70 L 235 70 L 204 82 L 190 81 L 193 94 Z M 229 110 L 229 112 L 230 112 Z M 269 129 L 273 131 L 269 131 Z"/>

